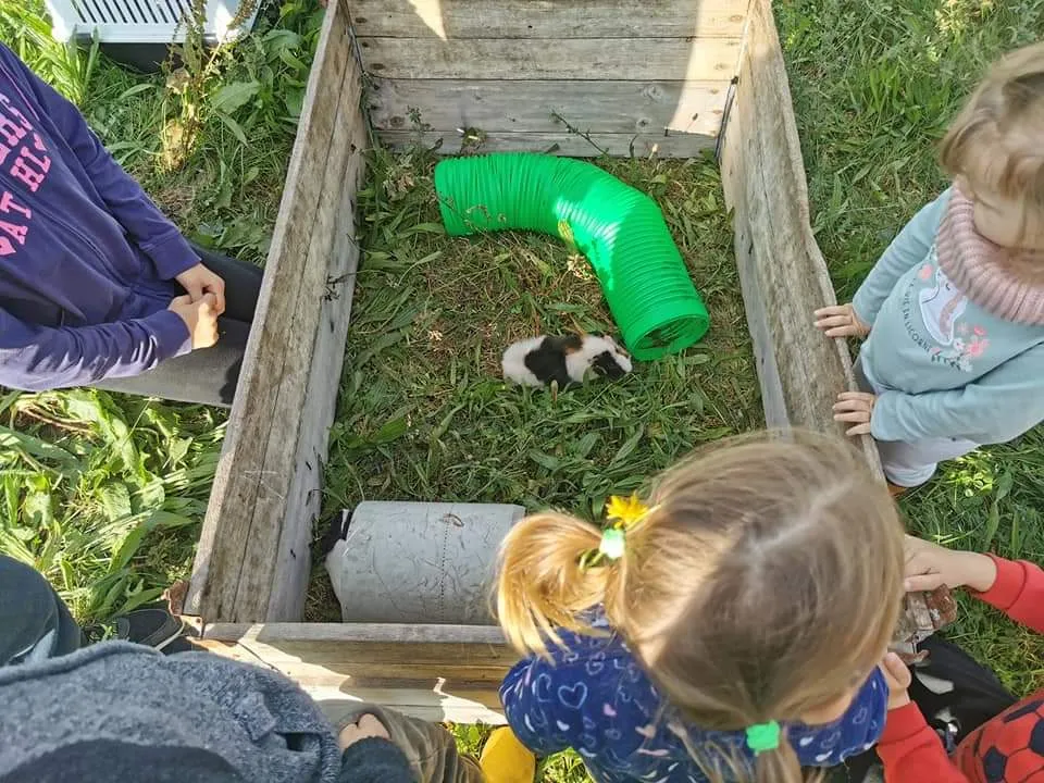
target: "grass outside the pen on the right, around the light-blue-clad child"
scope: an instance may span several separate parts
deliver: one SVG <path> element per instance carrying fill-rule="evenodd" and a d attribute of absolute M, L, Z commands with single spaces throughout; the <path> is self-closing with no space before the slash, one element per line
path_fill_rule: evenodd
<path fill-rule="evenodd" d="M 942 137 L 985 66 L 1044 29 L 1044 0 L 788 0 L 776 16 L 817 239 L 848 299 L 947 183 Z M 944 465 L 902 502 L 947 546 L 1044 562 L 1044 432 Z M 950 634 L 1015 693 L 1044 685 L 1044 637 L 962 601 Z"/>

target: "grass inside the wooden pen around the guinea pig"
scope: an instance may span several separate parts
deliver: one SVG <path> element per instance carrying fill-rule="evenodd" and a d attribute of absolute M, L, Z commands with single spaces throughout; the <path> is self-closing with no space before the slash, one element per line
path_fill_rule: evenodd
<path fill-rule="evenodd" d="M 430 156 L 376 154 L 331 439 L 326 505 L 518 502 L 597 517 L 696 444 L 757 427 L 749 338 L 712 161 L 605 161 L 651 194 L 712 313 L 709 336 L 616 384 L 507 387 L 515 339 L 612 331 L 587 261 L 557 238 L 445 236 Z M 313 591 L 316 593 L 316 591 Z M 311 617 L 330 618 L 324 591 Z"/>

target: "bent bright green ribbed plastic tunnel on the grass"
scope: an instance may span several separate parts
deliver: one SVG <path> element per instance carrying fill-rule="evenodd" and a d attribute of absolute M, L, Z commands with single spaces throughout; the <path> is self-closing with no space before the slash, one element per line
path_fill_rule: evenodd
<path fill-rule="evenodd" d="M 551 234 L 587 257 L 623 340 L 658 359 L 703 337 L 710 320 L 656 202 L 596 165 L 500 153 L 444 160 L 435 191 L 451 236 Z"/>

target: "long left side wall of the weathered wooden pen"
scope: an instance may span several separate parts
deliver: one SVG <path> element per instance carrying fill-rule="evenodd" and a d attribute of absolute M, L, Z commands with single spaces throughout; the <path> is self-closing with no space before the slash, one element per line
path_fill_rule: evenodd
<path fill-rule="evenodd" d="M 327 10 L 186 611 L 298 620 L 358 263 L 365 122 L 347 7 Z"/>

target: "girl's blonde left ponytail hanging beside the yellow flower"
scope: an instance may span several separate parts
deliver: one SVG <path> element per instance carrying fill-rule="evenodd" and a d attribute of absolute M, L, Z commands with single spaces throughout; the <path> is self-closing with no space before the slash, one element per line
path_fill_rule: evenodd
<path fill-rule="evenodd" d="M 497 618 L 519 652 L 547 658 L 547 641 L 561 644 L 556 629 L 594 633 L 582 614 L 602 602 L 616 566 L 584 570 L 580 559 L 600 540 L 598 527 L 559 513 L 529 517 L 504 539 Z"/>

